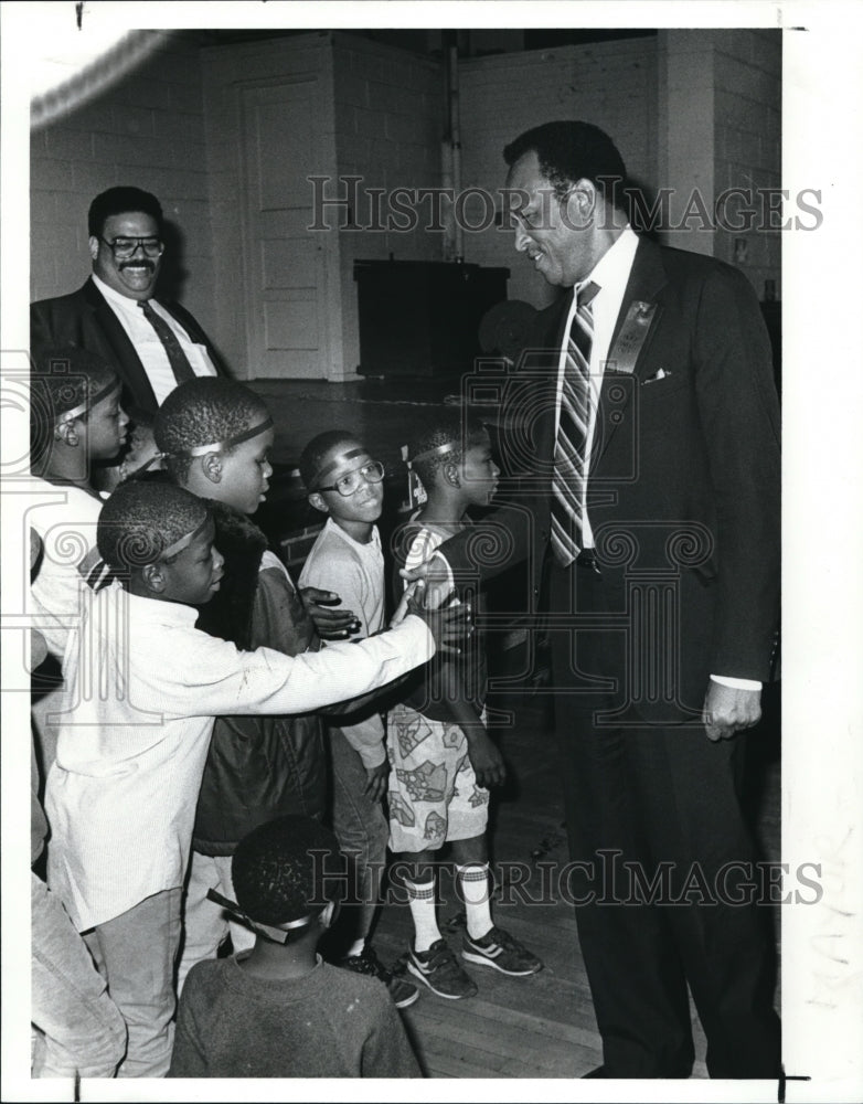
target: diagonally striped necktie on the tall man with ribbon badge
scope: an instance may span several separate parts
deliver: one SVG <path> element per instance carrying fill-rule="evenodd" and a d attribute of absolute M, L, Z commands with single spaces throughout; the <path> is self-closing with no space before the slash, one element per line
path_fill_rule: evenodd
<path fill-rule="evenodd" d="M 586 481 L 587 426 L 590 411 L 590 347 L 594 340 L 592 300 L 599 290 L 586 284 L 566 341 L 561 391 L 561 422 L 554 446 L 552 478 L 552 551 L 563 567 L 582 550 Z"/>

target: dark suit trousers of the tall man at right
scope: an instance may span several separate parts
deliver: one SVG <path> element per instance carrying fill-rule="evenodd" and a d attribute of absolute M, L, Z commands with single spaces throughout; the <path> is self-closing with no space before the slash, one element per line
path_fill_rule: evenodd
<path fill-rule="evenodd" d="M 552 613 L 603 611 L 603 581 L 589 569 L 554 566 L 550 576 Z M 592 669 L 578 648 L 574 660 L 571 637 L 551 634 L 556 730 L 571 857 L 585 864 L 571 891 L 606 1073 L 689 1076 L 689 983 L 711 1076 L 775 1078 L 775 953 L 769 910 L 752 903 L 745 736 L 712 743 L 694 726 L 603 724 L 598 697 L 566 692 L 574 669 Z"/>

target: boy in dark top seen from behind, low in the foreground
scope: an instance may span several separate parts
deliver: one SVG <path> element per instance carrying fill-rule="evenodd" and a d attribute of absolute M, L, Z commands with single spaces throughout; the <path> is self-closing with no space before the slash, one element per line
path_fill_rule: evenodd
<path fill-rule="evenodd" d="M 340 858 L 333 834 L 308 817 L 260 825 L 239 843 L 234 907 L 254 947 L 190 973 L 169 1076 L 420 1075 L 384 987 L 317 953 L 338 909 Z"/>

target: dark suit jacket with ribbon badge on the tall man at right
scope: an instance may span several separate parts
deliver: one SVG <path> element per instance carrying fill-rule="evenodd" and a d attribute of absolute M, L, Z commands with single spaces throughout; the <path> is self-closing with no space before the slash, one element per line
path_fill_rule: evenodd
<path fill-rule="evenodd" d="M 700 703 L 711 673 L 765 681 L 780 575 L 779 410 L 770 344 L 746 277 L 711 257 L 642 240 L 609 353 L 633 302 L 654 305 L 633 371 L 606 371 L 588 514 L 608 605 L 631 612 L 633 581 L 674 578 L 679 694 Z M 490 577 L 529 558 L 533 599 L 548 548 L 555 388 L 568 296 L 542 311 L 507 388 L 504 466 L 528 490 L 441 546 L 458 573 Z M 478 527 L 481 529 L 482 527 Z M 472 545 L 471 546 L 471 541 Z M 554 611 L 551 612 L 554 614 Z M 621 676 L 620 626 L 578 634 L 579 662 Z"/>

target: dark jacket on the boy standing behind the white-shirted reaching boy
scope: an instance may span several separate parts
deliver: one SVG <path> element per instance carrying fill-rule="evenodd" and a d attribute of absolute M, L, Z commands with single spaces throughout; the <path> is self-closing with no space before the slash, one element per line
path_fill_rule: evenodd
<path fill-rule="evenodd" d="M 267 541 L 237 510 L 210 503 L 215 546 L 225 558 L 222 586 L 198 628 L 244 650 L 266 646 L 297 656 L 319 640 L 284 570 L 260 563 Z M 289 813 L 320 818 L 327 802 L 324 730 L 318 714 L 220 716 L 204 768 L 192 846 L 233 854 L 258 825 Z"/>

